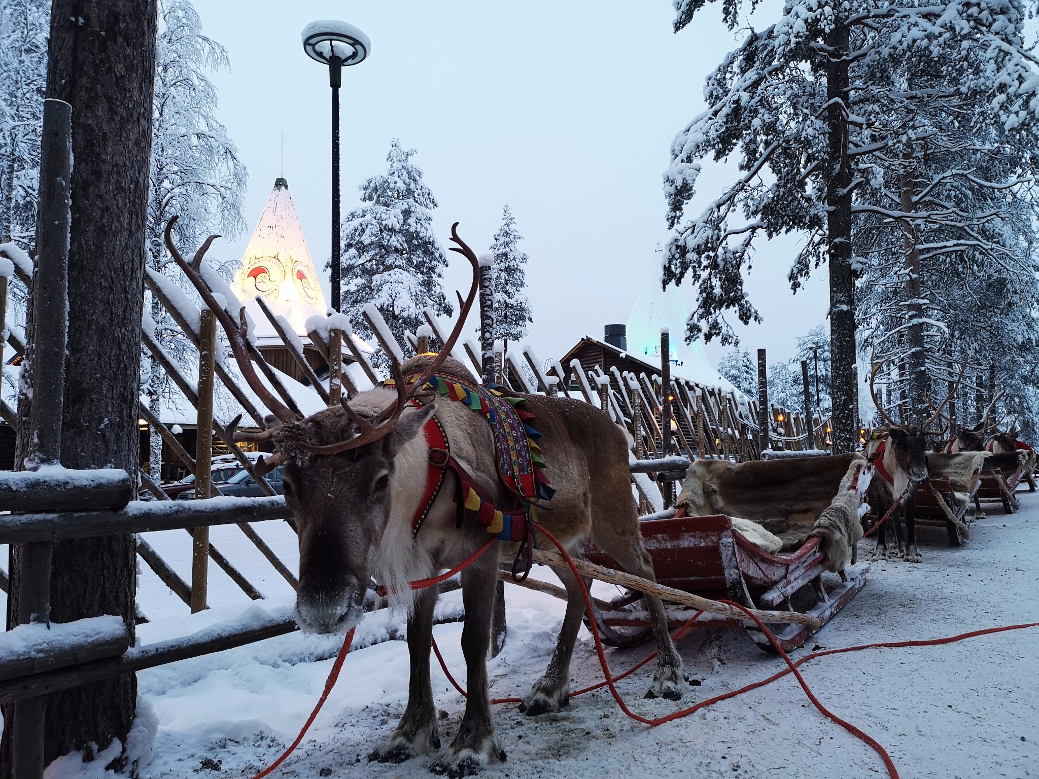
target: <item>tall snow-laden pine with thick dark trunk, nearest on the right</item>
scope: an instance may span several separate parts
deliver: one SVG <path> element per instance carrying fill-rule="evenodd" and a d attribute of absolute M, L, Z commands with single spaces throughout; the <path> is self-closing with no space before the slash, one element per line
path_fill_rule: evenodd
<path fill-rule="evenodd" d="M 703 5 L 704 0 L 676 0 L 675 30 Z M 729 27 L 740 8 L 738 1 L 724 3 Z M 1021 19 L 1017 0 L 994 6 L 978 0 L 927 6 L 790 0 L 775 24 L 751 30 L 708 78 L 708 110 L 672 144 L 665 194 L 675 234 L 664 283 L 690 275 L 697 286 L 690 338 L 702 332 L 708 340 L 735 341 L 728 311 L 745 323 L 760 320 L 743 278 L 757 235 L 807 236 L 790 273 L 795 290 L 814 267 L 828 263 L 834 451 L 857 444 L 852 369 L 858 270 L 852 263 L 852 229 L 863 212 L 854 204 L 863 182 L 875 177 L 876 158 L 895 152 L 872 137 L 871 129 L 885 126 L 890 116 L 870 113 L 871 105 L 880 105 L 870 90 L 876 86 L 893 99 L 901 96 L 901 105 L 888 101 L 884 107 L 905 113 L 917 96 L 901 78 L 900 56 L 914 49 L 971 52 L 979 61 L 987 58 L 977 76 L 988 82 L 993 112 L 1008 128 L 1028 125 L 1039 110 L 1034 101 L 1039 81 Z M 947 91 L 958 86 L 957 75 L 951 74 Z M 699 216 L 687 219 L 702 160 L 726 159 L 737 150 L 739 178 Z"/>

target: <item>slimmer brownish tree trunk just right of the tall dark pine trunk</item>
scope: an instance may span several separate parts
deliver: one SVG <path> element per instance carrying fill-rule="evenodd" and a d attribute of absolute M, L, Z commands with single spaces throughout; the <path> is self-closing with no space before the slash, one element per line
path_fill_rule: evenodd
<path fill-rule="evenodd" d="M 899 194 L 903 213 L 911 214 L 916 210 L 913 204 L 915 192 L 915 176 L 912 159 L 904 160 L 905 169 L 900 176 Z M 920 280 L 920 247 L 916 240 L 916 225 L 906 221 L 902 229 L 903 247 L 906 256 L 906 283 L 903 304 L 906 307 L 906 391 L 909 408 L 906 414 L 910 424 L 920 424 L 927 417 L 927 364 L 924 344 L 924 303 L 923 290 Z"/>

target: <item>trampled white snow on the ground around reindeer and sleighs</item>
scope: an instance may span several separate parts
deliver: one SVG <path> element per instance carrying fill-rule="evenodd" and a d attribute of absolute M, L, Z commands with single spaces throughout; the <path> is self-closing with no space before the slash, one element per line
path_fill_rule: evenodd
<path fill-rule="evenodd" d="M 949 547 L 944 531 L 931 532 L 925 538 L 921 565 L 874 563 L 864 589 L 794 657 L 816 645 L 834 648 L 937 638 L 1039 620 L 1035 594 L 1039 496 L 1023 493 L 1021 504 L 1021 511 L 1011 516 L 990 509 L 990 516 L 975 525 L 971 540 L 962 547 Z M 283 522 L 255 527 L 279 553 L 293 547 L 292 532 Z M 186 576 L 188 535 L 171 532 L 149 538 Z M 254 583 L 265 594 L 288 595 L 277 574 L 262 559 L 252 559 L 251 545 L 237 529 L 214 528 L 213 541 L 233 556 L 243 573 L 256 576 Z M 863 542 L 863 554 L 872 546 L 872 541 Z M 294 558 L 287 557 L 286 562 L 294 565 Z M 142 608 L 156 621 L 138 628 L 141 642 L 199 629 L 244 605 L 244 596 L 235 596 L 230 581 L 221 584 L 222 573 L 213 566 L 212 591 L 221 601 L 215 605 L 219 608 L 188 617 L 186 607 L 142 569 Z M 494 697 L 529 690 L 548 664 L 564 611 L 562 601 L 548 595 L 512 586 L 506 592 L 508 641 L 488 666 Z M 170 618 L 158 620 L 160 614 Z M 460 633 L 460 624 L 435 628 L 452 672 L 464 683 Z M 1030 628 L 947 646 L 869 649 L 812 661 L 802 670 L 824 704 L 877 738 L 906 779 L 1035 776 L 1039 774 L 1037 633 L 1039 628 Z M 339 644 L 335 637 L 297 633 L 141 672 L 140 693 L 159 723 L 154 757 L 141 777 L 251 777 L 297 733 L 320 695 Z M 649 648 L 608 650 L 608 656 L 619 672 Z M 779 659 L 762 652 L 742 632 L 701 633 L 682 641 L 680 649 L 688 677 L 699 682 L 689 688 L 682 705 L 742 687 L 781 667 Z M 435 662 L 433 666 L 446 749 L 464 703 Z M 365 759 L 403 711 L 407 673 L 403 642 L 351 652 L 308 737 L 273 776 L 429 776 L 431 756 L 400 765 Z M 650 675 L 647 668 L 618 688 L 643 715 L 675 710 L 674 703 L 642 699 Z M 601 679 L 585 632 L 571 676 L 575 689 Z M 484 772 L 496 779 L 598 779 L 618 769 L 629 776 L 659 777 L 852 779 L 885 773 L 877 754 L 816 711 L 791 676 L 658 728 L 624 717 L 605 690 L 574 699 L 559 715 L 533 720 L 514 704 L 497 706 L 496 722 L 508 753 L 504 764 Z M 69 769 L 65 762 L 60 776 L 101 776 L 96 764 L 84 767 L 80 774 L 66 773 Z"/>

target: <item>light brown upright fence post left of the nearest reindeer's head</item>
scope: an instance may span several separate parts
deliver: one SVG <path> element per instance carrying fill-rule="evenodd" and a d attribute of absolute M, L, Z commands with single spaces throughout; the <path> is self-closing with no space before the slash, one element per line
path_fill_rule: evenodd
<path fill-rule="evenodd" d="M 195 445 L 195 498 L 210 496 L 213 476 L 213 352 L 216 348 L 216 318 L 202 311 L 198 333 L 198 424 Z M 209 583 L 209 527 L 195 528 L 191 547 L 191 613 L 206 609 Z"/>

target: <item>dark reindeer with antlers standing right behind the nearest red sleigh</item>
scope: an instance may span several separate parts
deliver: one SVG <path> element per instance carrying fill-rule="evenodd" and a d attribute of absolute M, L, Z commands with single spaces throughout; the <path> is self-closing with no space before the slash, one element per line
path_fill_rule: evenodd
<path fill-rule="evenodd" d="M 900 511 L 905 517 L 906 538 L 903 544 L 899 527 L 900 512 L 896 511 L 891 516 L 891 521 L 895 523 L 895 539 L 898 548 L 897 550 L 887 548 L 885 522 L 877 530 L 877 547 L 873 553 L 873 559 L 903 558 L 906 562 L 918 563 L 922 562 L 922 558 L 920 549 L 916 547 L 916 523 L 913 511 L 916 503 L 916 491 L 920 489 L 921 482 L 925 481 L 928 476 L 927 429 L 938 419 L 941 409 L 956 394 L 959 382 L 963 378 L 966 364 L 964 361 L 963 368 L 960 369 L 959 378 L 957 378 L 952 392 L 938 404 L 930 419 L 923 424 L 899 425 L 884 410 L 874 387 L 877 374 L 884 361 L 886 360 L 875 364 L 870 375 L 870 396 L 873 398 L 873 404 L 877 407 L 877 412 L 883 419 L 885 427 L 882 428 L 884 431 L 882 436 L 875 436 L 865 445 L 863 454 L 877 471 L 870 481 L 867 494 L 870 506 L 880 517 L 887 513 L 899 496 L 904 496 Z"/>

